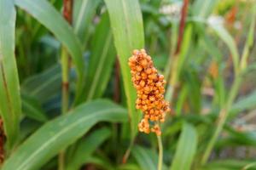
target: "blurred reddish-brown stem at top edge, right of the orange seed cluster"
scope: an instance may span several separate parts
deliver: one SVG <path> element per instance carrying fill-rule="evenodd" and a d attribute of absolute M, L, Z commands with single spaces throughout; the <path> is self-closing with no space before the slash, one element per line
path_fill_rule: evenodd
<path fill-rule="evenodd" d="M 179 31 L 178 31 L 178 37 L 177 37 L 177 48 L 174 56 L 177 56 L 177 54 L 179 54 L 180 48 L 183 42 L 183 32 L 184 32 L 184 27 L 186 23 L 188 7 L 189 7 L 189 0 L 183 0 L 183 8 L 181 10 L 181 19 L 180 19 Z"/>

